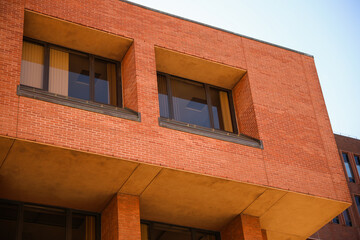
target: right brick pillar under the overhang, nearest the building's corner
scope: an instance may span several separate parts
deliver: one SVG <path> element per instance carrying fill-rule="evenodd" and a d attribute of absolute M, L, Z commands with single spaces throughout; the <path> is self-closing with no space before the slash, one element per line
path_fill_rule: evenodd
<path fill-rule="evenodd" d="M 239 215 L 221 230 L 221 240 L 266 240 L 259 218 Z"/>

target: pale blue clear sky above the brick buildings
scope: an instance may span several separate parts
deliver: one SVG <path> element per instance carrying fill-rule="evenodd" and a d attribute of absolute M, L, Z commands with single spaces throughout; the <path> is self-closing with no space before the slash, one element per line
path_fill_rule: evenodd
<path fill-rule="evenodd" d="M 360 139 L 360 0 L 131 0 L 311 54 L 333 131 Z"/>

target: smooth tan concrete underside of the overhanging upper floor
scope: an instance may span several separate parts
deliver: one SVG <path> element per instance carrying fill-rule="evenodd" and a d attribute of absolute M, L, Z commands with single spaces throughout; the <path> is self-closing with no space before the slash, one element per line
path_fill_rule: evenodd
<path fill-rule="evenodd" d="M 221 230 L 260 218 L 268 239 L 305 239 L 350 203 L 0 137 L 0 198 L 101 212 L 114 194 L 140 197 L 141 218 Z"/>

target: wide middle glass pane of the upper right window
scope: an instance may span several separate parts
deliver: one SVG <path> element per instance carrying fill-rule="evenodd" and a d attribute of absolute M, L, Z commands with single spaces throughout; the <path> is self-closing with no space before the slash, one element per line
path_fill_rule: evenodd
<path fill-rule="evenodd" d="M 171 91 L 175 120 L 211 127 L 203 84 L 171 78 Z"/>

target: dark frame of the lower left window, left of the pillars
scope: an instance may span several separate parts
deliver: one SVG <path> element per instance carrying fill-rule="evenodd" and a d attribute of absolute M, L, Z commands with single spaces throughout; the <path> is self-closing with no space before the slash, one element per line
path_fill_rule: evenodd
<path fill-rule="evenodd" d="M 45 208 L 50 208 L 50 209 L 54 209 L 54 210 L 64 211 L 65 217 L 66 217 L 66 222 L 65 222 L 66 233 L 65 233 L 64 240 L 72 239 L 72 214 L 73 213 L 79 213 L 79 214 L 84 214 L 87 216 L 93 216 L 93 217 L 95 217 L 95 240 L 101 239 L 101 214 L 100 213 L 77 210 L 77 209 L 72 209 L 72 208 L 57 207 L 57 206 L 51 206 L 51 205 L 12 201 L 12 200 L 6 200 L 6 199 L 0 199 L 0 203 L 17 206 L 15 240 L 22 240 L 23 224 L 24 224 L 24 206 L 45 207 Z"/>

